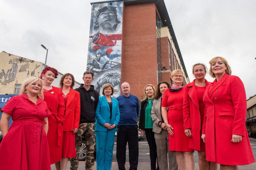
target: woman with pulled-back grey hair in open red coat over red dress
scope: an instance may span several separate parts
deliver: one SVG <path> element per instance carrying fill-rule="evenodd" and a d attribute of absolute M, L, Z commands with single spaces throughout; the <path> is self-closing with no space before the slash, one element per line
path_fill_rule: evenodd
<path fill-rule="evenodd" d="M 189 137 L 189 148 L 197 150 L 199 169 L 217 169 L 217 164 L 205 158 L 205 143 L 201 139 L 205 104 L 203 95 L 210 84 L 205 80 L 207 69 L 205 64 L 193 65 L 192 73 L 196 78 L 184 87 L 183 120 L 184 132 Z"/>

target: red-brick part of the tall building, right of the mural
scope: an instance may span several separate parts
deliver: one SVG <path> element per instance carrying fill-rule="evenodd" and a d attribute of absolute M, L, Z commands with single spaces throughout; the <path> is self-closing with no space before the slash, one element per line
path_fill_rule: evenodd
<path fill-rule="evenodd" d="M 189 83 L 164 1 L 123 2 L 121 82 L 129 82 L 131 93 L 139 99 L 147 84 L 172 83 L 171 72 L 175 69 L 181 69 L 184 84 Z M 163 66 L 166 71 L 162 71 Z"/>

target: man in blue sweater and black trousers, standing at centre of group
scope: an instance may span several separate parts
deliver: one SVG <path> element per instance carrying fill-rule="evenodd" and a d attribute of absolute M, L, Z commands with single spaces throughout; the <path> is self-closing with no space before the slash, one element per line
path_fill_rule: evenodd
<path fill-rule="evenodd" d="M 116 160 L 119 170 L 125 170 L 126 145 L 129 148 L 129 170 L 137 169 L 139 156 L 138 116 L 140 102 L 137 96 L 130 94 L 127 82 L 121 85 L 123 95 L 118 96 L 120 121 L 117 126 Z"/>

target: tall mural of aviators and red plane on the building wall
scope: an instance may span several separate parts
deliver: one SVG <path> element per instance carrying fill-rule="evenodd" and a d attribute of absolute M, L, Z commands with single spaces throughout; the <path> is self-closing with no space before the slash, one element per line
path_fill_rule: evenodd
<path fill-rule="evenodd" d="M 102 96 L 102 86 L 114 86 L 120 95 L 123 1 L 92 4 L 87 70 L 93 71 L 92 85 Z"/>

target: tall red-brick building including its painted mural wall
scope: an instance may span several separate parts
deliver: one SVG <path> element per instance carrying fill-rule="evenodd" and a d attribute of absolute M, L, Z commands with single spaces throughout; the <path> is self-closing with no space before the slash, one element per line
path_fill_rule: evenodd
<path fill-rule="evenodd" d="M 116 74 L 121 74 L 120 82 L 128 82 L 131 86 L 131 93 L 139 99 L 142 99 L 143 90 L 147 84 L 156 86 L 161 81 L 172 83 L 171 72 L 175 69 L 181 69 L 184 75 L 183 83 L 185 85 L 189 83 L 164 0 L 116 0 L 95 2 L 91 5 L 90 37 L 92 40 L 89 44 L 87 64 L 89 64 L 89 69 L 96 71 L 95 85 L 100 84 L 99 82 L 104 79 L 102 78 L 104 74 L 114 74 L 114 69 Z M 106 22 L 100 21 L 99 16 L 101 12 L 106 15 L 107 9 L 115 13 L 116 22 L 119 20 L 121 24 L 117 24 L 118 26 L 112 32 L 108 32 L 103 26 L 96 30 L 101 27 L 100 24 L 103 25 L 103 22 Z M 111 39 L 112 45 L 110 45 L 111 40 L 107 38 L 110 36 L 111 38 L 115 36 Z M 103 42 L 109 42 L 110 47 L 104 45 Z M 95 51 L 106 55 L 96 59 Z M 109 68 L 98 67 L 93 61 L 101 62 L 102 66 L 104 63 L 104 66 L 106 64 L 110 66 Z M 121 69 L 117 68 L 117 65 L 111 65 L 109 61 L 120 64 Z M 122 90 L 120 92 L 122 94 Z"/>

